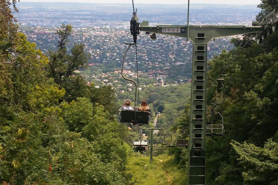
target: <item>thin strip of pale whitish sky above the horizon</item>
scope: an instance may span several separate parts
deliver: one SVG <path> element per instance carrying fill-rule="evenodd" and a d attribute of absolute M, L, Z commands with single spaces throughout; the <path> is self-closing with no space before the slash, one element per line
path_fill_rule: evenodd
<path fill-rule="evenodd" d="M 21 2 L 131 3 L 132 0 L 20 0 Z M 187 4 L 188 0 L 133 0 L 135 4 Z M 191 0 L 190 3 L 255 4 L 261 0 Z"/>

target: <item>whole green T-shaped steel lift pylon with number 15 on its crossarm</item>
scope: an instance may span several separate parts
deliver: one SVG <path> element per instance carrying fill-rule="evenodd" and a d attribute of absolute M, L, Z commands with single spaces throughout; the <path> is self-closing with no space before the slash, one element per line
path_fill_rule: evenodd
<path fill-rule="evenodd" d="M 261 26 L 149 26 L 148 21 L 140 24 L 140 30 L 156 34 L 189 38 L 193 42 L 191 108 L 189 124 L 188 185 L 205 184 L 206 163 L 206 90 L 207 90 L 207 46 L 211 39 L 257 33 Z M 187 31 L 189 30 L 189 32 Z"/>

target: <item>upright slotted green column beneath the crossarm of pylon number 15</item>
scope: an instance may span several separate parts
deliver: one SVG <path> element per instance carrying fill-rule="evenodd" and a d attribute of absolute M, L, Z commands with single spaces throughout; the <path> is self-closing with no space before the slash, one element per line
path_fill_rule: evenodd
<path fill-rule="evenodd" d="M 207 44 L 193 44 L 188 184 L 205 184 Z"/>

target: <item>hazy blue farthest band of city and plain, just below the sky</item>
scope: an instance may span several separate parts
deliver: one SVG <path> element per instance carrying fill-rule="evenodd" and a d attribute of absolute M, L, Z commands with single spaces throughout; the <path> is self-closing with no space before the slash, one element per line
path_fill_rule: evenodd
<path fill-rule="evenodd" d="M 17 4 L 18 20 L 23 25 L 59 27 L 62 23 L 75 28 L 102 27 L 128 29 L 132 13 L 131 4 L 92 3 L 31 3 Z M 187 23 L 185 5 L 136 5 L 139 21 L 152 25 Z M 256 5 L 191 4 L 190 24 L 242 24 L 251 25 L 259 9 Z"/>

